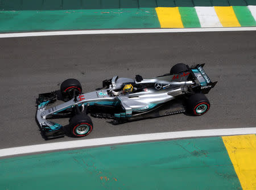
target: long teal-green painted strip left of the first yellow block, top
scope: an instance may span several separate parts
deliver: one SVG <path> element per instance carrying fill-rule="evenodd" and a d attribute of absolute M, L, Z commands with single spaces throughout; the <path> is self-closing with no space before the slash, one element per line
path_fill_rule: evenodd
<path fill-rule="evenodd" d="M 155 9 L 0 11 L 0 32 L 160 28 Z"/>

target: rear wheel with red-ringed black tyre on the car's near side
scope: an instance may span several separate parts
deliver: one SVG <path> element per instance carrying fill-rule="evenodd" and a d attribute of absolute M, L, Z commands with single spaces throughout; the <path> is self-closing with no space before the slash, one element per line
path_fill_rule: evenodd
<path fill-rule="evenodd" d="M 210 108 L 209 100 L 201 93 L 189 96 L 187 105 L 187 111 L 194 116 L 204 115 Z"/>

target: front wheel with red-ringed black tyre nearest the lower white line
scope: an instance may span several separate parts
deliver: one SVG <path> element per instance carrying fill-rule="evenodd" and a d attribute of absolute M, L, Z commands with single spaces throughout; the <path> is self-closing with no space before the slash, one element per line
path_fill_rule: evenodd
<path fill-rule="evenodd" d="M 75 115 L 69 120 L 69 132 L 74 137 L 88 136 L 92 130 L 93 123 L 88 115 Z"/>

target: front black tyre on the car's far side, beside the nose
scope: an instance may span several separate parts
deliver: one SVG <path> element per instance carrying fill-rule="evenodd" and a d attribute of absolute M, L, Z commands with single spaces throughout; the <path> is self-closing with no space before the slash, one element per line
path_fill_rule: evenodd
<path fill-rule="evenodd" d="M 69 78 L 60 85 L 61 94 L 64 97 L 69 97 L 69 99 L 73 98 L 74 90 L 77 92 L 76 95 L 82 93 L 81 83 L 75 78 Z"/>

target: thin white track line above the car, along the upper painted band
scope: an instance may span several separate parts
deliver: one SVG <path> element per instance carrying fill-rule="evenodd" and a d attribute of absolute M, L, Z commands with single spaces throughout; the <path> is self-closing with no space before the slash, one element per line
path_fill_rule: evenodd
<path fill-rule="evenodd" d="M 0 33 L 0 38 L 3 38 L 3 37 L 31 37 L 31 36 L 90 35 L 90 34 L 95 35 L 95 34 L 118 34 L 118 33 L 228 32 L 228 31 L 256 31 L 256 27 L 98 29 L 98 30 L 84 30 L 84 31 L 22 32 L 22 33 Z"/>

